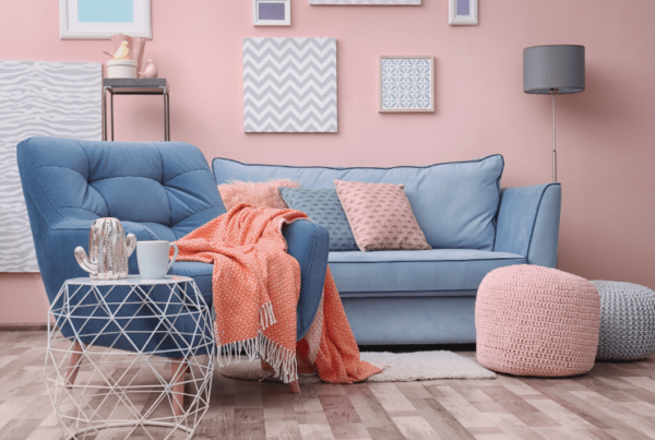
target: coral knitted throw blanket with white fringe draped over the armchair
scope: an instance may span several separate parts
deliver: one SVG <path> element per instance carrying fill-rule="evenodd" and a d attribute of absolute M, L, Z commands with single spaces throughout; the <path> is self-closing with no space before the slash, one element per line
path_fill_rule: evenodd
<path fill-rule="evenodd" d="M 241 203 L 176 241 L 178 261 L 213 263 L 219 364 L 241 349 L 260 357 L 286 383 L 318 371 L 325 382 L 353 383 L 382 371 L 359 359 L 330 267 L 323 298 L 307 335 L 296 343 L 300 265 L 287 250 L 282 226 L 308 221 L 294 210 Z"/>

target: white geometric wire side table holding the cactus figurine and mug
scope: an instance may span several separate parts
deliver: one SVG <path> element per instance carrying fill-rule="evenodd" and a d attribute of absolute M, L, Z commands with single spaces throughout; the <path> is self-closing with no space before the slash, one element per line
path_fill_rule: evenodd
<path fill-rule="evenodd" d="M 192 278 L 69 280 L 48 318 L 45 379 L 66 439 L 193 437 L 216 343 Z"/>

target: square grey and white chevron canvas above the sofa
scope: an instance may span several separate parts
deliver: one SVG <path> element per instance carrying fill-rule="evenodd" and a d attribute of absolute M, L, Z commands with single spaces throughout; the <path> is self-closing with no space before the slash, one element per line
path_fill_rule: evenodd
<path fill-rule="evenodd" d="M 243 38 L 243 130 L 335 133 L 336 38 Z"/>

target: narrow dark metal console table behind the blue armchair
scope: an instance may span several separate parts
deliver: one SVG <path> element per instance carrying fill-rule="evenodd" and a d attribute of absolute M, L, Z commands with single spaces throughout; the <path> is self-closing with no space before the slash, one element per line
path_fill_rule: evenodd
<path fill-rule="evenodd" d="M 103 79 L 103 141 L 107 141 L 107 92 L 110 98 L 111 112 L 111 141 L 114 141 L 114 95 L 162 95 L 164 96 L 164 140 L 170 141 L 170 87 L 165 78 L 130 79 L 106 78 Z"/>

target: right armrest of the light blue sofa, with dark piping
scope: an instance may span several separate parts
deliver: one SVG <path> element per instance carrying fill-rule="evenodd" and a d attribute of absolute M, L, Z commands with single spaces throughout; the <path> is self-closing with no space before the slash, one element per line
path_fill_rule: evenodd
<path fill-rule="evenodd" d="M 527 257 L 528 264 L 555 267 L 561 201 L 559 183 L 502 190 L 493 250 Z"/>

